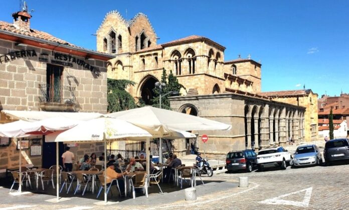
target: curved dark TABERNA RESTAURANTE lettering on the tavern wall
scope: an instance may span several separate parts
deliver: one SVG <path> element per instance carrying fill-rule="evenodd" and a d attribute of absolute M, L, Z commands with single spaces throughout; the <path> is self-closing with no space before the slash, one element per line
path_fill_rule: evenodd
<path fill-rule="evenodd" d="M 14 51 L 10 52 L 8 54 L 0 56 L 0 64 L 7 63 L 19 58 L 30 58 L 30 57 L 38 57 L 38 54 L 35 50 L 22 50 L 22 51 Z M 41 54 L 42 56 L 47 56 L 48 54 Z M 92 66 L 88 63 L 86 63 L 84 60 L 81 60 L 79 58 L 76 58 L 71 55 L 66 55 L 62 53 L 53 53 L 53 59 L 51 59 L 51 62 L 47 58 L 39 57 L 40 62 L 46 62 L 56 65 L 62 65 L 62 66 L 68 66 L 73 67 L 74 63 L 78 66 L 82 66 L 90 71 L 92 71 L 97 76 L 100 75 L 100 71 L 95 66 Z"/>

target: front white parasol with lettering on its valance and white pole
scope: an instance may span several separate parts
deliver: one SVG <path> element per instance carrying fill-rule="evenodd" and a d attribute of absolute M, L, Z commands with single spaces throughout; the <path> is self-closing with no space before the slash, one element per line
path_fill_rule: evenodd
<path fill-rule="evenodd" d="M 106 151 L 107 140 L 128 140 L 147 138 L 149 141 L 151 135 L 126 121 L 116 118 L 98 118 L 89 121 L 81 122 L 79 125 L 59 134 L 52 133 L 46 136 L 47 142 L 73 142 L 73 141 L 104 141 L 104 153 Z M 104 168 L 106 169 L 106 161 L 104 160 Z M 104 176 L 104 183 L 106 183 L 106 176 Z M 107 191 L 104 188 L 104 201 L 107 202 Z"/>

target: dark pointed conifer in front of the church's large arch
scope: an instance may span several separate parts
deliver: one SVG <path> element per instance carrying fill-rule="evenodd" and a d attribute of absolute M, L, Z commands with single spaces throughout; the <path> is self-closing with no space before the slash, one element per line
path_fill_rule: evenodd
<path fill-rule="evenodd" d="M 164 83 L 165 86 L 162 87 L 162 94 L 166 94 L 169 91 L 180 91 L 181 88 L 184 86 L 178 82 L 177 76 L 173 75 L 172 70 L 169 70 L 169 74 L 167 77 L 166 70 L 162 69 L 162 75 L 161 75 L 161 83 Z M 152 106 L 159 108 L 159 95 L 160 95 L 160 89 L 158 87 L 155 87 L 153 89 L 154 97 L 152 98 Z M 161 96 L 161 108 L 170 110 L 169 106 L 169 100 L 168 97 L 170 97 L 170 94 L 167 94 L 165 96 Z"/>

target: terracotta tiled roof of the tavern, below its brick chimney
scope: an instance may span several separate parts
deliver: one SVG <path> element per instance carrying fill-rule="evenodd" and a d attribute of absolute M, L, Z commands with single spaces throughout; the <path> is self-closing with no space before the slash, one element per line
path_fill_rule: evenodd
<path fill-rule="evenodd" d="M 34 29 L 30 29 L 30 31 L 21 30 L 19 28 L 16 28 L 13 24 L 10 24 L 10 23 L 4 22 L 4 21 L 0 21 L 0 30 L 13 32 L 16 34 L 21 34 L 24 36 L 29 36 L 29 37 L 33 37 L 33 38 L 37 38 L 37 39 L 43 39 L 43 40 L 47 40 L 47 41 L 51 41 L 51 42 L 56 42 L 58 44 L 69 45 L 72 47 L 78 47 L 78 46 L 73 45 L 67 41 L 64 41 L 62 39 L 54 37 L 51 34 L 48 34 L 46 32 L 38 31 L 38 30 L 34 30 Z"/>

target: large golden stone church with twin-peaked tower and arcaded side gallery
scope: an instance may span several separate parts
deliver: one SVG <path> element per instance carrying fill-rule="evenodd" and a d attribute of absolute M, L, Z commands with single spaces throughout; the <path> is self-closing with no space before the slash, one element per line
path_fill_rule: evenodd
<path fill-rule="evenodd" d="M 317 137 L 313 126 L 317 124 L 316 93 L 263 93 L 261 63 L 250 56 L 226 61 L 225 49 L 197 35 L 157 44 L 156 33 L 142 13 L 125 20 L 119 12 L 109 12 L 97 30 L 97 51 L 114 56 L 107 63 L 107 77 L 136 82 L 127 89 L 136 99 L 151 105 L 152 89 L 162 69 L 167 74 L 172 70 L 185 86 L 180 96 L 170 97 L 173 110 L 233 126 L 231 131 L 192 131 L 198 139 L 208 134 L 206 153 L 258 150 L 286 144 L 290 139 L 299 143 Z M 175 141 L 176 152 L 188 153 L 191 143 L 193 140 Z M 201 141 L 194 143 L 203 149 Z"/>

